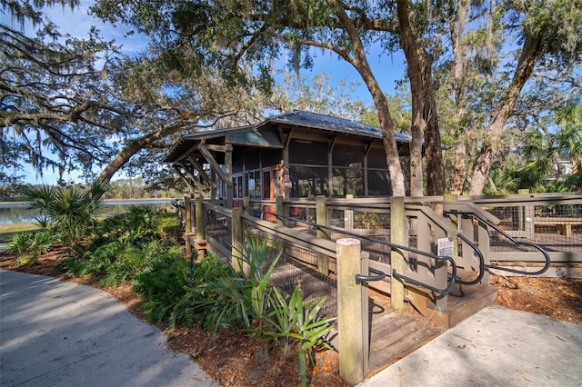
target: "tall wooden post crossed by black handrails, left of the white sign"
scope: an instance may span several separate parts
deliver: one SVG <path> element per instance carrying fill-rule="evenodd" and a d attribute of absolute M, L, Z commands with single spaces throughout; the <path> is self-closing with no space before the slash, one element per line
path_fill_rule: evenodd
<path fill-rule="evenodd" d="M 407 246 L 406 213 L 404 210 L 404 197 L 395 196 L 390 199 L 390 242 Z M 392 271 L 404 274 L 404 252 L 392 250 L 390 265 Z M 404 309 L 404 282 L 392 277 L 390 283 L 390 303 L 396 311 Z"/>

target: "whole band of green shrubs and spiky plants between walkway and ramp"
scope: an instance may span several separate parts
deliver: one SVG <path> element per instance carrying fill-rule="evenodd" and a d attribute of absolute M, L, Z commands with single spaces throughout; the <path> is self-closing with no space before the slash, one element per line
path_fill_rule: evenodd
<path fill-rule="evenodd" d="M 216 255 L 185 259 L 179 248 L 165 243 L 160 231 L 174 222 L 151 207 L 138 206 L 100 222 L 87 246 L 77 246 L 69 273 L 101 278 L 104 285 L 134 280 L 144 300 L 147 318 L 169 327 L 200 325 L 217 332 L 234 328 L 281 339 L 284 351 L 298 342 L 302 383 L 306 385 L 306 355 L 313 362 L 315 346 L 324 341 L 334 319 L 319 319 L 325 299 L 304 303 L 295 289 L 287 302 L 270 282 L 281 251 L 266 238 L 247 236 L 236 271 Z M 24 242 L 15 242 L 15 247 Z"/>

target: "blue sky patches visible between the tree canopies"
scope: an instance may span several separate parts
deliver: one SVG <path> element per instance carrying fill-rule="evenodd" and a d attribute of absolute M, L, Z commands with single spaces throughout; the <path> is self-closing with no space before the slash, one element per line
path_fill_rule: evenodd
<path fill-rule="evenodd" d="M 121 45 L 121 51 L 125 55 L 135 55 L 146 49 L 147 38 L 143 35 L 128 35 L 132 30 L 131 27 L 124 25 L 105 25 L 100 20 L 87 14 L 89 7 L 93 4 L 92 0 L 81 0 L 80 6 L 71 10 L 70 7 L 62 7 L 60 5 L 53 6 L 45 10 L 45 14 L 49 16 L 51 21 L 59 27 L 61 34 L 69 34 L 74 37 L 82 38 L 87 36 L 87 33 L 92 25 L 95 25 L 102 35 L 107 40 L 115 40 L 117 45 Z M 10 15 L 5 15 L 0 10 L 0 22 L 11 25 Z M 19 28 L 19 25 L 13 25 Z M 33 29 L 30 25 L 25 26 L 26 33 L 32 33 Z M 374 73 L 382 74 L 377 81 L 386 94 L 394 94 L 396 89 L 396 81 L 402 79 L 405 72 L 403 55 L 381 55 L 379 49 L 372 50 L 368 55 L 368 60 L 372 66 Z M 281 66 L 285 63 L 281 62 Z M 359 86 L 355 91 L 355 99 L 372 104 L 372 98 L 369 94 L 366 85 L 362 81 L 359 74 L 352 65 L 349 65 L 344 60 L 337 58 L 335 54 L 329 51 L 317 50 L 314 66 L 311 70 L 301 70 L 301 74 L 307 78 L 313 77 L 319 73 L 331 74 L 331 83 L 338 84 L 343 80 L 348 83 L 356 82 Z M 58 174 L 49 170 L 44 172 L 43 176 L 35 173 L 32 167 L 25 168 L 25 182 L 29 184 L 55 184 L 58 179 Z M 124 176 L 120 176 L 124 177 Z M 78 174 L 69 174 L 65 176 L 65 181 L 77 180 Z"/>

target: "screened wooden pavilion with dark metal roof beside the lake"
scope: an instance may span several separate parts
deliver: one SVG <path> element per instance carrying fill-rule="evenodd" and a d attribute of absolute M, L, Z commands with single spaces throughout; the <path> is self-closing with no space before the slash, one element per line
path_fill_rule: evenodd
<path fill-rule="evenodd" d="M 396 134 L 406 170 L 410 137 Z M 390 179 L 380 128 L 293 111 L 249 126 L 187 134 L 164 160 L 191 193 L 226 206 L 251 200 L 386 196 Z"/>

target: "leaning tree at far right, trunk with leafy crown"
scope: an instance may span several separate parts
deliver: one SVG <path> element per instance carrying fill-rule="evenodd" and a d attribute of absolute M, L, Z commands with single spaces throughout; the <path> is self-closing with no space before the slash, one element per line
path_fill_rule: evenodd
<path fill-rule="evenodd" d="M 487 137 L 477 154 L 469 194 L 483 192 L 493 156 L 507 119 L 517 104 L 517 99 L 527 81 L 542 61 L 554 62 L 568 69 L 580 63 L 582 54 L 582 2 L 514 0 L 504 4 L 508 34 L 517 32 L 518 50 L 510 82 L 495 104 L 487 124 Z"/>

